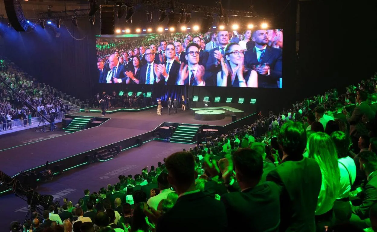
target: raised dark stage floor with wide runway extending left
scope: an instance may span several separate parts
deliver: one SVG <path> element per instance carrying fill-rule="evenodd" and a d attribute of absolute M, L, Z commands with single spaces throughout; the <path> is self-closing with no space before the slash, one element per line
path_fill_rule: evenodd
<path fill-rule="evenodd" d="M 157 115 L 155 108 L 140 112 L 107 114 L 103 117 L 110 119 L 101 124 L 101 126 L 2 150 L 0 151 L 2 158 L 0 170 L 9 176 L 14 176 L 21 170 L 25 171 L 44 165 L 47 160 L 51 163 L 152 131 L 162 122 L 215 126 L 224 126 L 231 123 L 231 117 L 229 116 L 217 121 L 199 121 L 195 120 L 189 111 L 178 111 L 178 114 L 168 115 L 166 108 L 162 110 L 162 115 Z M 98 113 L 84 112 L 71 115 L 101 117 Z M 16 136 L 13 136 L 12 133 L 8 135 L 12 136 L 12 140 L 23 141 L 23 139 L 17 138 L 18 136 L 22 137 L 22 133 L 18 133 Z M 35 132 L 35 137 L 43 137 L 45 135 L 48 135 L 48 133 Z M 3 140 L 4 138 L 5 140 Z M 7 140 L 6 136 L 4 138 L 2 138 L 2 141 Z M 3 147 L 9 148 L 6 145 Z"/>

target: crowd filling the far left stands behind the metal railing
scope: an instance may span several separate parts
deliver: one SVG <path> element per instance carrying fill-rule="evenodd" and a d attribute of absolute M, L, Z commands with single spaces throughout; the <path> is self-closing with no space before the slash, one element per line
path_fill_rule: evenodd
<path fill-rule="evenodd" d="M 0 82 L 0 130 L 12 129 L 12 121 L 23 120 L 21 125 L 28 126 L 32 124 L 32 117 L 69 112 L 72 108 L 65 94 L 29 77 L 11 61 L 3 60 L 0 78 L 36 109 Z"/>

